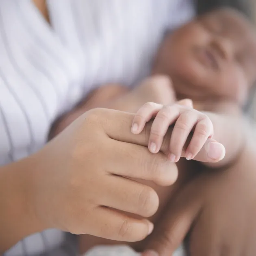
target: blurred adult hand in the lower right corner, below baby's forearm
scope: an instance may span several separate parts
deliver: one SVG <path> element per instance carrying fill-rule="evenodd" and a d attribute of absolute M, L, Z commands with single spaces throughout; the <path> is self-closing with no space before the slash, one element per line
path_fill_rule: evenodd
<path fill-rule="evenodd" d="M 143 256 L 172 255 L 189 231 L 191 256 L 255 255 L 254 156 L 255 147 L 247 148 L 236 165 L 206 172 L 174 195 L 147 241 L 146 248 L 154 252 Z"/>

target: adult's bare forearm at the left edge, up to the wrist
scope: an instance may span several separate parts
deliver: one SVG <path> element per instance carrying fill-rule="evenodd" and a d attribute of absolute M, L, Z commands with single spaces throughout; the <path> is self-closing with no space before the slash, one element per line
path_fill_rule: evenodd
<path fill-rule="evenodd" d="M 25 159 L 0 168 L 0 254 L 41 230 L 30 205 L 30 170 Z"/>

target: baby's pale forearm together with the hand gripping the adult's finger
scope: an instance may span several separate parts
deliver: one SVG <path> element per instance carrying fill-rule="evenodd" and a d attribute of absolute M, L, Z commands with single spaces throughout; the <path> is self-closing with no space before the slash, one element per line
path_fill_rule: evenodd
<path fill-rule="evenodd" d="M 212 138 L 216 143 L 207 146 L 210 147 L 210 158 L 216 159 L 216 162 L 204 164 L 208 167 L 225 167 L 233 163 L 242 152 L 248 137 L 249 124 L 232 104 L 216 105 L 215 110 L 216 113 L 200 112 L 193 109 L 192 104 L 163 106 L 147 103 L 137 112 L 134 124 L 135 127 L 138 126 L 138 130 L 133 132 L 141 132 L 145 123 L 155 117 L 149 149 L 156 153 L 161 147 L 167 128 L 175 123 L 167 152 L 170 160 L 177 162 L 180 156 L 187 160 L 193 159 L 204 143 L 207 143 L 207 139 Z"/>

